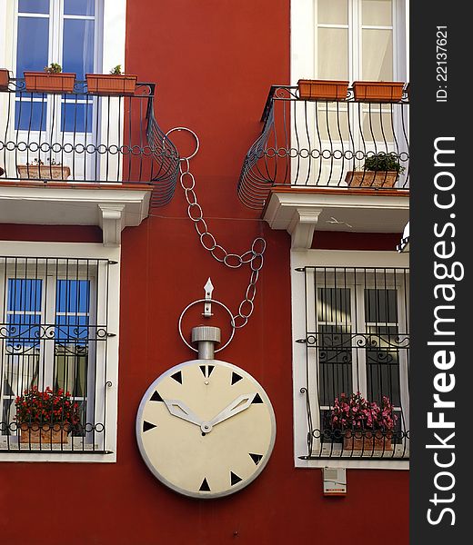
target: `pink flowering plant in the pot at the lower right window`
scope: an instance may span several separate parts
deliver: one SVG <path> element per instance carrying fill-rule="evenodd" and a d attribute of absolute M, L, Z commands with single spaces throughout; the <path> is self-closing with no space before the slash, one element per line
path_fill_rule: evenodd
<path fill-rule="evenodd" d="M 328 425 L 332 430 L 382 430 L 392 431 L 398 416 L 387 396 L 381 406 L 376 401 L 367 401 L 359 391 L 340 394 L 334 401 Z"/>

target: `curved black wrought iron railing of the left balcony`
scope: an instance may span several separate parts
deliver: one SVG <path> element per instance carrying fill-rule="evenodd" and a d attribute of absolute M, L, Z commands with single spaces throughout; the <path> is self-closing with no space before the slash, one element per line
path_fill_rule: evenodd
<path fill-rule="evenodd" d="M 173 196 L 179 158 L 156 122 L 155 84 L 133 95 L 28 93 L 24 79 L 0 92 L 0 181 L 146 183 L 151 203 Z M 2 173 L 3 171 L 3 173 Z"/>

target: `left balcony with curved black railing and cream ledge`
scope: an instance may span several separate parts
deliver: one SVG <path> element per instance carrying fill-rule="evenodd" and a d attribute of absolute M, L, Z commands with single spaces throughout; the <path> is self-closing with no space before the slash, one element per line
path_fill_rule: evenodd
<path fill-rule="evenodd" d="M 0 92 L 2 222 L 99 224 L 105 242 L 118 243 L 126 225 L 168 203 L 179 160 L 155 97 L 147 83 L 132 95 L 92 94 L 78 81 L 50 94 L 10 79 Z"/>

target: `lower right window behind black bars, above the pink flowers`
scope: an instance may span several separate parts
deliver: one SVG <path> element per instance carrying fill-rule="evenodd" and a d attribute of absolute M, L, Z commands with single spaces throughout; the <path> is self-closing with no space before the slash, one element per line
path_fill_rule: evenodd
<path fill-rule="evenodd" d="M 315 299 L 307 300 L 307 324 L 315 328 L 307 332 L 309 419 L 315 419 L 314 437 L 322 438 L 314 448 L 340 445 L 342 436 L 330 415 L 337 398 L 357 392 L 378 406 L 387 396 L 399 431 L 392 443 L 402 443 L 407 409 L 403 404 L 408 399 L 408 272 L 309 267 L 306 274 L 306 293 L 314 293 Z M 400 457 L 405 454 L 401 451 L 399 447 Z M 371 451 L 357 455 L 370 456 Z M 388 455 L 392 457 L 392 451 Z"/>

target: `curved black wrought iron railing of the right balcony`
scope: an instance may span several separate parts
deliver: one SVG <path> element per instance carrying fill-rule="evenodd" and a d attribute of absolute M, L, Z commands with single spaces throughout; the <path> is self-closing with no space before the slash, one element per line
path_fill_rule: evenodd
<path fill-rule="evenodd" d="M 263 208 L 279 185 L 409 188 L 408 85 L 400 101 L 385 103 L 355 100 L 351 88 L 343 100 L 303 100 L 297 86 L 273 85 L 261 121 L 262 133 L 247 152 L 237 188 L 250 208 Z M 377 154 L 398 163 L 394 178 L 365 170 L 365 160 Z"/>

